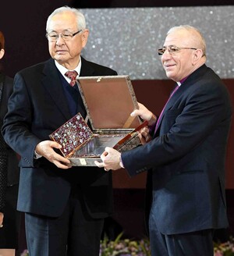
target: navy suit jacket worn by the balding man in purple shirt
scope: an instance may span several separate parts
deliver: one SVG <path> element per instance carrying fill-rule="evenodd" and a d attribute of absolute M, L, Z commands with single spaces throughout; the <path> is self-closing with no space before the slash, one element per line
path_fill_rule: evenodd
<path fill-rule="evenodd" d="M 225 151 L 231 112 L 225 85 L 201 66 L 168 101 L 154 139 L 122 153 L 130 176 L 151 169 L 151 210 L 161 233 L 228 226 Z"/>

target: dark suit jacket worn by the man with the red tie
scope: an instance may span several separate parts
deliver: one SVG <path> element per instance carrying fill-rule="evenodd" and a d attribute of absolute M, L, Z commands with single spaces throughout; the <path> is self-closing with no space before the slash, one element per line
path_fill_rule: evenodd
<path fill-rule="evenodd" d="M 80 76 L 116 75 L 105 66 L 82 59 Z M 73 185 L 80 186 L 85 211 L 93 218 L 112 212 L 112 174 L 97 167 L 58 169 L 45 158 L 34 159 L 34 149 L 72 118 L 55 61 L 16 74 L 2 133 L 21 155 L 18 210 L 38 215 L 62 214 Z"/>

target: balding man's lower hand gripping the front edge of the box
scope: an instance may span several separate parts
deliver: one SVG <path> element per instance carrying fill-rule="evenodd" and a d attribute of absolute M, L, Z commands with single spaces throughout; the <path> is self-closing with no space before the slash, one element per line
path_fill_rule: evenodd
<path fill-rule="evenodd" d="M 104 167 L 105 171 L 109 170 L 117 170 L 121 169 L 122 167 L 120 164 L 120 156 L 121 153 L 115 150 L 114 148 L 106 147 L 105 151 L 101 154 L 102 162 L 95 161 L 95 165 L 99 168 Z"/>

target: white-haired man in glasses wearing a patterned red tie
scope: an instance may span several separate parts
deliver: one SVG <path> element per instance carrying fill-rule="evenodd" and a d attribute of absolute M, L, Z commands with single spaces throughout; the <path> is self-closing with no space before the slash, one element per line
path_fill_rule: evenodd
<path fill-rule="evenodd" d="M 18 210 L 25 212 L 30 256 L 99 255 L 104 218 L 112 212 L 112 176 L 97 167 L 72 167 L 49 134 L 86 110 L 76 76 L 117 73 L 83 59 L 89 30 L 77 9 L 48 17 L 51 59 L 16 74 L 5 141 L 21 155 Z"/>

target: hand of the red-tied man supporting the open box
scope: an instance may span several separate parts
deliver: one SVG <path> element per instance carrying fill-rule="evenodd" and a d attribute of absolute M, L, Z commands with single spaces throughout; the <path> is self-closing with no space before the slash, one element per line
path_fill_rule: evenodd
<path fill-rule="evenodd" d="M 60 144 L 51 140 L 44 140 L 37 144 L 35 151 L 37 154 L 44 156 L 48 161 L 55 164 L 58 168 L 69 169 L 70 165 L 69 159 L 64 158 L 62 155 L 57 154 L 54 148 L 62 148 Z"/>

